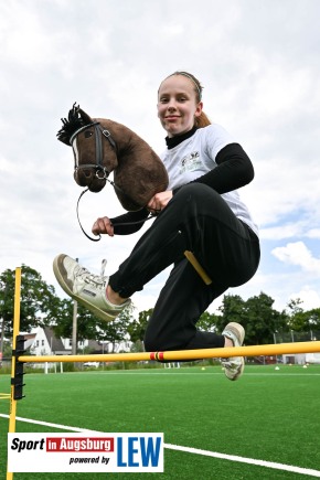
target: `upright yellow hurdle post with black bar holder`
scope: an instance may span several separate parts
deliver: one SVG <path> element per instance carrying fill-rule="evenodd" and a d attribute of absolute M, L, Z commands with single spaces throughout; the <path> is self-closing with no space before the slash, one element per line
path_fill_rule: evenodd
<path fill-rule="evenodd" d="M 15 282 L 14 282 L 14 314 L 13 314 L 13 338 L 12 338 L 12 353 L 17 349 L 17 337 L 20 332 L 20 290 L 21 290 L 21 267 L 15 268 Z M 9 415 L 9 434 L 14 434 L 15 431 L 15 418 L 17 418 L 17 399 L 14 398 L 14 376 L 15 366 L 18 358 L 12 354 L 11 361 L 11 396 L 10 396 L 10 415 Z M 7 480 L 12 480 L 13 473 L 8 471 L 7 468 Z"/>

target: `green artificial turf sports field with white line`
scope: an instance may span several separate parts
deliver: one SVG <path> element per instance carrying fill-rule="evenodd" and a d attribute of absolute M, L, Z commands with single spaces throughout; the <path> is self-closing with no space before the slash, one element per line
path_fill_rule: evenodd
<path fill-rule="evenodd" d="M 246 366 L 230 382 L 220 366 L 201 365 L 25 375 L 17 431 L 163 433 L 164 473 L 14 473 L 14 480 L 320 478 L 320 366 Z M 0 375 L 0 392 L 9 385 L 9 375 Z M 0 414 L 4 480 L 9 401 L 0 402 Z"/>

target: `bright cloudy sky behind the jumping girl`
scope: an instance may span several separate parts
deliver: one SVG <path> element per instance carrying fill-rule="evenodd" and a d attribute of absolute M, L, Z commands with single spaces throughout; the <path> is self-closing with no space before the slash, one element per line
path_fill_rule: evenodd
<path fill-rule="evenodd" d="M 58 253 L 98 273 L 116 270 L 134 236 L 88 241 L 76 220 L 82 189 L 71 148 L 56 140 L 77 102 L 119 121 L 157 152 L 160 82 L 177 70 L 204 85 L 204 111 L 250 157 L 242 189 L 260 228 L 262 263 L 244 287 L 285 309 L 291 298 L 320 307 L 320 2 L 318 0 L 7 0 L 0 3 L 0 273 L 52 273 Z M 110 186 L 87 193 L 81 217 L 122 209 Z M 153 307 L 168 271 L 134 296 Z M 215 301 L 211 311 L 220 305 Z"/>

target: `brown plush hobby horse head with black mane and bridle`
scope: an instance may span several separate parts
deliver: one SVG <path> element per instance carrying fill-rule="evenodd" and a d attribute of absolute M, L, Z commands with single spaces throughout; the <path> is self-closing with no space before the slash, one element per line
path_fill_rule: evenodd
<path fill-rule="evenodd" d="M 162 161 L 129 128 L 103 118 L 93 119 L 75 104 L 62 121 L 57 138 L 73 148 L 74 179 L 78 185 L 99 192 L 114 172 L 116 194 L 128 211 L 146 206 L 154 193 L 167 189 Z"/>

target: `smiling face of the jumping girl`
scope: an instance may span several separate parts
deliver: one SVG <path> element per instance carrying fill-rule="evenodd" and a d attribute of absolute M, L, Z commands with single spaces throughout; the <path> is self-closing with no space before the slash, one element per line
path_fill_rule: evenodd
<path fill-rule="evenodd" d="M 193 82 L 184 75 L 166 78 L 158 93 L 158 117 L 168 137 L 185 134 L 194 126 L 202 111 Z"/>

